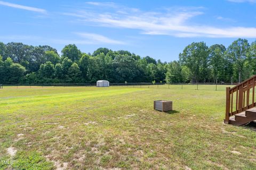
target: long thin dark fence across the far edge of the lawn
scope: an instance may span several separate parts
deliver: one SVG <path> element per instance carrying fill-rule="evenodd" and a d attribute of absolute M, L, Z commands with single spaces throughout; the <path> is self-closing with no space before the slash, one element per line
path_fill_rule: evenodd
<path fill-rule="evenodd" d="M 226 90 L 230 83 L 110 83 L 111 86 L 152 89 Z M 96 83 L 0 84 L 0 88 L 96 87 Z"/>

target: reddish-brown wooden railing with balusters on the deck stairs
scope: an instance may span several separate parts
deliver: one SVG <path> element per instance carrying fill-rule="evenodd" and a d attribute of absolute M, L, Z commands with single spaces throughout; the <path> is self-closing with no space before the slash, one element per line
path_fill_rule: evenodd
<path fill-rule="evenodd" d="M 241 113 L 246 109 L 256 106 L 254 92 L 256 75 L 237 84 L 235 87 L 226 88 L 226 117 L 225 123 L 229 123 L 229 117 Z M 250 94 L 251 91 L 251 94 Z M 235 101 L 234 101 L 235 100 Z"/>

